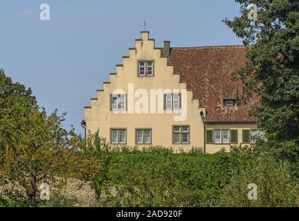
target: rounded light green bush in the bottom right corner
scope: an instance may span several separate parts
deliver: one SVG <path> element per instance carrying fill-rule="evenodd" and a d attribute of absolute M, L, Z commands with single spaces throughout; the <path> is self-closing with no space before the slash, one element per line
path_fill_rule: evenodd
<path fill-rule="evenodd" d="M 256 200 L 248 199 L 248 184 L 257 185 Z M 298 182 L 292 179 L 286 161 L 262 153 L 239 171 L 233 171 L 230 183 L 221 193 L 219 206 L 299 206 Z"/>

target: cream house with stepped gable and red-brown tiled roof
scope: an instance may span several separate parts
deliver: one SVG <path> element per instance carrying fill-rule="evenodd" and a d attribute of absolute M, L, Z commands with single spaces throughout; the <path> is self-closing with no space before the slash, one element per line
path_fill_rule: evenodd
<path fill-rule="evenodd" d="M 244 46 L 156 48 L 141 32 L 135 48 L 84 108 L 88 133 L 99 130 L 111 144 L 162 145 L 215 153 L 230 144 L 248 144 L 263 135 L 248 111 L 257 97 L 237 105 L 241 83 L 231 73 L 245 62 Z"/>

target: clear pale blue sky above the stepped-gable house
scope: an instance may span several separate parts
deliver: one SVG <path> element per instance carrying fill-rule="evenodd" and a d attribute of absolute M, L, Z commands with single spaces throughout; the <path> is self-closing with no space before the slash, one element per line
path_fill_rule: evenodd
<path fill-rule="evenodd" d="M 39 19 L 42 3 L 50 21 Z M 0 68 L 83 133 L 83 107 L 134 47 L 144 20 L 158 47 L 235 45 L 242 40 L 221 20 L 237 15 L 234 0 L 1 0 Z"/>

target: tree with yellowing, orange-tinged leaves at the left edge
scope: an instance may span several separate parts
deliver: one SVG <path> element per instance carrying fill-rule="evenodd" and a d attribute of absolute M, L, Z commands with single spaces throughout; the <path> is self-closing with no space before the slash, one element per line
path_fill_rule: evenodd
<path fill-rule="evenodd" d="M 0 75 L 0 175 L 24 187 L 28 206 L 36 206 L 41 182 L 55 180 L 78 137 L 62 127 L 65 113 L 47 116 L 31 90 Z"/>

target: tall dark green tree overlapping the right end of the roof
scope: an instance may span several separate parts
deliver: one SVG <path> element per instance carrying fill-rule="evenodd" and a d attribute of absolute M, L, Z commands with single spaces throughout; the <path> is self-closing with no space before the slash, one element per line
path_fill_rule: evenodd
<path fill-rule="evenodd" d="M 243 82 L 239 101 L 254 94 L 260 106 L 253 109 L 257 124 L 269 140 L 299 144 L 299 2 L 298 0 L 236 0 L 239 17 L 224 23 L 249 46 L 246 65 L 236 79 Z M 255 3 L 257 19 L 248 19 Z"/>

